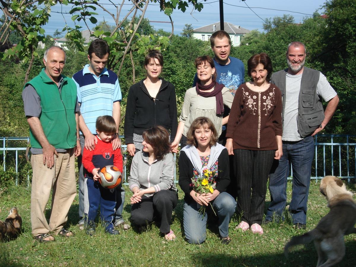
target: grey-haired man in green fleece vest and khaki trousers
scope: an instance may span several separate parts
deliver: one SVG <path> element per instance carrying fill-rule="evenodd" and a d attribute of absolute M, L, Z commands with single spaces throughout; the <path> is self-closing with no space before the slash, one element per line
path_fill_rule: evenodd
<path fill-rule="evenodd" d="M 74 157 L 80 155 L 77 87 L 62 75 L 66 53 L 52 46 L 45 51 L 39 75 L 25 84 L 22 99 L 30 125 L 32 234 L 40 242 L 65 237 L 67 215 L 77 193 Z M 52 211 L 46 205 L 52 190 Z"/>

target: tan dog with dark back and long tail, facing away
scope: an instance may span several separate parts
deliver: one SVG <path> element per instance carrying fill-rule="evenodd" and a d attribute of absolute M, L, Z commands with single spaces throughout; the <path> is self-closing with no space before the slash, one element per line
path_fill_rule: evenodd
<path fill-rule="evenodd" d="M 347 191 L 342 180 L 335 176 L 321 179 L 320 192 L 328 200 L 330 211 L 311 231 L 295 236 L 284 248 L 287 256 L 290 246 L 309 244 L 314 241 L 318 252 L 318 266 L 333 266 L 345 256 L 344 236 L 356 234 L 356 204 L 352 192 Z"/>

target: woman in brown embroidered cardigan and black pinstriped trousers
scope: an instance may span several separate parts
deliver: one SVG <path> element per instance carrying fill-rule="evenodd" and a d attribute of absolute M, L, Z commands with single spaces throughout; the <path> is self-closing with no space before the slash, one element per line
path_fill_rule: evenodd
<path fill-rule="evenodd" d="M 270 83 L 272 63 L 266 53 L 253 55 L 247 66 L 251 82 L 236 91 L 226 148 L 234 155 L 237 214 L 242 215 L 236 228 L 262 235 L 268 174 L 273 159 L 282 156 L 282 96 Z"/>

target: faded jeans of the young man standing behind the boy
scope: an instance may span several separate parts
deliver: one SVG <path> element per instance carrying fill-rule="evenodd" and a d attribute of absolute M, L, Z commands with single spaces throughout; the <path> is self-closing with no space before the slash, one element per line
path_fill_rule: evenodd
<path fill-rule="evenodd" d="M 85 174 L 85 169 L 83 168 L 82 164 L 82 156 L 83 156 L 83 151 L 84 151 L 84 136 L 80 135 L 80 146 L 82 147 L 82 153 L 78 157 L 78 169 L 79 169 L 79 220 L 83 220 L 84 218 L 84 174 Z M 125 200 L 125 189 L 123 187 L 118 187 L 115 190 L 116 192 L 116 211 L 115 211 L 115 224 L 117 224 L 117 221 L 120 223 L 124 222 L 124 219 L 122 218 L 122 210 L 124 209 L 124 200 Z"/>

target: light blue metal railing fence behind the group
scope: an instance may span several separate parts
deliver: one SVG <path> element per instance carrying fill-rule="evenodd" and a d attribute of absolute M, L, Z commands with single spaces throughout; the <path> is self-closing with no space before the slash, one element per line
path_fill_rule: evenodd
<path fill-rule="evenodd" d="M 123 138 L 123 136 L 120 136 Z M 0 137 L 2 147 L 2 168 L 6 171 L 6 164 L 15 163 L 15 171 L 19 173 L 19 161 L 23 161 L 26 156 L 29 137 Z M 122 145 L 123 151 L 126 151 L 126 145 Z M 124 162 L 127 162 L 127 154 L 124 153 Z M 174 158 L 176 159 L 176 154 Z M 356 178 L 356 135 L 316 135 L 315 136 L 315 156 L 312 167 L 311 179 L 321 179 L 325 175 L 335 175 L 341 178 Z M 124 164 L 124 184 L 127 184 L 127 164 Z M 290 166 L 290 176 L 293 177 L 293 169 Z M 1 177 L 0 177 L 1 179 Z M 174 181 L 177 183 L 177 176 L 174 175 Z M 16 185 L 18 177 L 16 177 Z M 30 184 L 30 178 L 27 175 L 27 184 Z"/>

